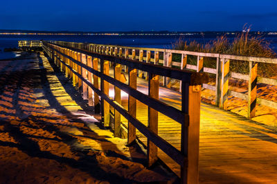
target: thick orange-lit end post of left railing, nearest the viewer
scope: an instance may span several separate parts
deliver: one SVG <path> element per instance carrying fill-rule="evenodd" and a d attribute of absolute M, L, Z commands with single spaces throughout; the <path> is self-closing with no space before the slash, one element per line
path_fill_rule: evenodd
<path fill-rule="evenodd" d="M 199 183 L 200 92 L 201 85 L 182 85 L 182 112 L 189 118 L 181 126 L 181 153 L 187 157 L 181 166 L 181 183 Z"/>

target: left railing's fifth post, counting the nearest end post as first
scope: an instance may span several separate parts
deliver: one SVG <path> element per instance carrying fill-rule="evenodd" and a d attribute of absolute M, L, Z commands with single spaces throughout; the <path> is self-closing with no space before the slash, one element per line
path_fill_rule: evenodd
<path fill-rule="evenodd" d="M 101 73 L 106 74 L 109 76 L 109 61 L 104 61 L 103 59 L 100 59 L 100 65 L 101 65 Z M 109 96 L 109 83 L 101 78 L 101 91 Z M 102 105 L 102 121 L 104 122 L 104 126 L 109 126 L 109 103 L 105 101 L 104 99 L 101 99 L 101 105 Z"/>

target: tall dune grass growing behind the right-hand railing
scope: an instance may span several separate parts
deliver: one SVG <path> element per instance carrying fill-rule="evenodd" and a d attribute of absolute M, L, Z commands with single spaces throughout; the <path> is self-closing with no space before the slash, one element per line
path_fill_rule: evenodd
<path fill-rule="evenodd" d="M 238 34 L 234 39 L 227 39 L 226 35 L 217 37 L 208 43 L 198 43 L 197 41 L 184 41 L 179 39 L 172 45 L 175 50 L 188 50 L 194 52 L 207 52 L 219 54 L 234 54 L 251 57 L 267 57 L 276 58 L 277 54 L 271 50 L 270 43 L 262 37 L 249 35 L 248 29 Z M 195 64 L 196 57 L 189 56 L 188 63 Z M 215 68 L 215 59 L 205 58 L 204 66 Z M 242 74 L 249 73 L 249 62 L 247 61 L 231 61 L 230 70 Z M 277 76 L 277 65 L 269 63 L 258 63 L 258 75 L 271 77 Z"/>

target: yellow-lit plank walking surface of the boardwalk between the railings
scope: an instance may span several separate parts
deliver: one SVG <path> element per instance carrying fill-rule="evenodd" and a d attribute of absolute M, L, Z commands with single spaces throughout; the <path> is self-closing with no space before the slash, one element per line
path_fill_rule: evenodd
<path fill-rule="evenodd" d="M 148 94 L 147 81 L 138 78 L 138 90 Z M 181 108 L 179 92 L 160 86 L 159 99 Z M 123 92 L 122 105 L 127 108 Z M 148 124 L 148 108 L 139 101 L 137 119 Z M 161 113 L 159 136 L 180 149 L 181 125 Z M 147 144 L 139 131 L 137 137 Z M 199 150 L 200 183 L 277 183 L 277 128 L 202 103 Z M 161 150 L 159 158 L 179 175 L 179 165 Z"/>

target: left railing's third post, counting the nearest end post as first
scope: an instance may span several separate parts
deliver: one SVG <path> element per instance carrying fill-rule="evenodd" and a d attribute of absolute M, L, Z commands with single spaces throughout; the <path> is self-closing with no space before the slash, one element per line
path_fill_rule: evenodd
<path fill-rule="evenodd" d="M 134 68 L 129 68 L 128 74 L 129 74 L 129 87 L 134 88 L 136 90 L 137 70 Z M 128 111 L 131 116 L 136 117 L 136 99 L 131 95 L 128 95 Z M 130 145 L 131 143 L 134 142 L 135 139 L 136 139 L 136 127 L 134 127 L 134 125 L 132 125 L 132 123 L 128 121 L 127 144 Z"/>

